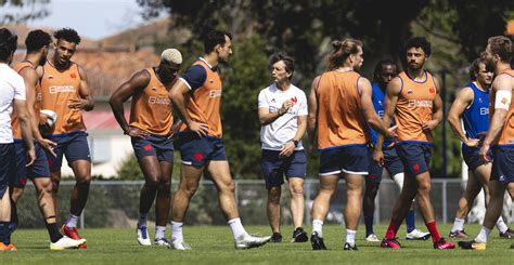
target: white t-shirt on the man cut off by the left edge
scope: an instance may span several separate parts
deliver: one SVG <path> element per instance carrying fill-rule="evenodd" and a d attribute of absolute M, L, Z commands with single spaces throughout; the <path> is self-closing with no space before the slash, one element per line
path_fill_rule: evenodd
<path fill-rule="evenodd" d="M 25 101 L 25 82 L 9 65 L 0 63 L 0 144 L 13 143 L 13 100 Z"/>

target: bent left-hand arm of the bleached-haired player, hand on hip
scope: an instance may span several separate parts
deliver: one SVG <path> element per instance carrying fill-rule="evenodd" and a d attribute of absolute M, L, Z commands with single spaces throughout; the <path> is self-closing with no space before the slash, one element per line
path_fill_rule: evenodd
<path fill-rule="evenodd" d="M 124 103 L 133 96 L 138 91 L 146 88 L 150 83 L 150 74 L 146 70 L 136 72 L 130 80 L 119 85 L 119 88 L 111 95 L 108 104 L 113 110 L 114 117 L 125 134 L 131 137 L 146 137 L 149 132 L 130 127 L 125 118 Z"/>

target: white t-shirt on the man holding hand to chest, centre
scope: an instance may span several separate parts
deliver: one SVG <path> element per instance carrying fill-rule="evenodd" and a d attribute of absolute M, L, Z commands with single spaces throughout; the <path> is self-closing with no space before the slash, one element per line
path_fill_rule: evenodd
<path fill-rule="evenodd" d="M 291 84 L 286 91 L 282 91 L 273 83 L 260 91 L 258 107 L 268 108 L 270 112 L 278 112 L 282 103 L 287 100 L 295 103 L 293 107 L 270 124 L 260 128 L 262 149 L 280 150 L 285 143 L 293 140 L 298 130 L 298 116 L 307 116 L 307 97 L 304 91 L 294 84 Z M 304 146 L 300 141 L 295 150 L 301 149 Z"/>

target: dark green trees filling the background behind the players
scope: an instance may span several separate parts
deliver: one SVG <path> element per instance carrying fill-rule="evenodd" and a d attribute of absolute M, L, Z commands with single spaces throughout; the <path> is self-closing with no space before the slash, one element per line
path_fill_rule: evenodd
<path fill-rule="evenodd" d="M 138 2 L 147 10 L 146 14 L 157 11 L 169 12 L 175 21 L 172 28 L 189 28 L 192 31 L 192 40 L 201 39 L 202 35 L 211 28 L 224 29 L 234 35 L 234 43 L 239 45 L 230 66 L 233 70 L 224 74 L 228 81 L 223 85 L 227 85 L 224 89 L 230 88 L 230 92 L 228 90 L 223 92 L 226 93 L 223 105 L 229 104 L 229 106 L 222 105 L 223 129 L 228 132 L 226 137 L 230 138 L 228 145 L 237 143 L 233 147 L 228 146 L 228 150 L 244 155 L 231 159 L 233 170 L 244 175 L 254 172 L 244 167 L 258 168 L 255 167 L 258 151 L 253 148 L 245 149 L 249 148 L 246 137 L 254 142 L 258 125 L 255 109 L 235 108 L 250 104 L 248 97 L 237 96 L 248 95 L 248 88 L 239 84 L 252 83 L 258 87 L 260 83 L 260 88 L 264 88 L 266 81 L 257 79 L 262 75 L 260 70 L 255 75 L 247 71 L 255 80 L 249 80 L 247 76 L 234 78 L 232 75 L 246 71 L 241 67 L 248 67 L 246 64 L 239 66 L 236 61 L 261 62 L 266 65 L 259 59 L 260 55 L 266 57 L 273 52 L 285 51 L 297 63 L 293 81 L 307 92 L 312 78 L 322 72 L 326 66 L 324 57 L 330 51 L 332 39 L 352 37 L 363 40 L 365 61 L 361 74 L 370 77 L 372 68 L 380 58 L 388 56 L 400 61 L 403 42 L 414 35 L 424 35 L 435 48 L 427 68 L 436 75 L 446 72 L 448 77 L 446 92 L 451 98 L 453 91 L 449 88 L 464 84 L 466 78 L 463 72 L 468 63 L 484 49 L 488 37 L 503 34 L 507 16 L 512 15 L 514 8 L 512 0 L 138 0 Z M 245 58 L 241 58 L 242 53 L 239 53 L 237 49 L 255 44 L 252 38 L 261 40 L 259 50 L 255 51 L 258 54 L 249 53 Z M 191 51 L 193 41 L 188 42 L 185 47 Z M 253 58 L 257 59 L 254 62 Z M 250 70 L 259 68 L 255 64 L 249 65 Z M 237 85 L 231 85 L 231 82 Z M 253 92 L 256 96 L 257 91 Z M 449 103 L 447 101 L 447 106 Z M 226 109 L 230 109 L 230 112 Z M 232 110 L 236 112 L 231 112 Z M 448 129 L 447 131 L 447 135 L 452 135 Z M 438 129 L 436 133 L 442 135 L 442 129 Z M 437 138 L 442 137 L 436 136 Z M 441 170 L 444 156 L 440 154 L 446 151 L 451 158 L 451 173 L 457 175 L 460 158 L 454 154 L 459 151 L 459 142 L 451 138 L 449 144 L 451 148 L 446 150 L 436 148 L 434 170 L 444 172 Z"/>

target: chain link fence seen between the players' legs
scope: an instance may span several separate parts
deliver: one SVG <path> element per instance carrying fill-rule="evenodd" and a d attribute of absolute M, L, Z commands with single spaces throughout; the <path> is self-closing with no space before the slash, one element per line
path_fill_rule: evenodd
<path fill-rule="evenodd" d="M 432 181 L 432 202 L 439 223 L 453 222 L 458 208 L 458 201 L 463 193 L 465 184 L 461 180 Z M 177 188 L 177 182 L 172 183 L 172 190 Z M 61 183 L 59 191 L 59 221 L 66 218 L 69 212 L 69 198 L 74 181 Z M 139 213 L 139 196 L 142 181 L 93 181 L 89 194 L 89 200 L 80 220 L 83 227 L 134 227 Z M 318 180 L 308 178 L 305 182 L 305 223 L 311 222 L 311 206 L 318 195 Z M 390 180 L 383 180 L 375 200 L 375 222 L 388 223 L 393 206 L 399 195 L 399 188 Z M 218 193 L 211 181 L 202 181 L 196 195 L 191 201 L 185 224 L 189 225 L 224 225 L 227 222 L 218 208 Z M 239 203 L 240 215 L 244 224 L 267 225 L 266 214 L 267 190 L 262 181 L 235 181 L 235 196 Z M 480 195 L 481 196 L 481 195 Z M 27 185 L 24 196 L 17 204 L 20 225 L 25 228 L 43 228 L 36 193 L 33 185 Z M 155 204 L 154 204 L 155 206 Z M 290 195 L 287 186 L 282 187 L 282 223 L 291 224 Z M 332 199 L 330 213 L 325 223 L 344 224 L 343 212 L 346 207 L 346 190 L 344 181 L 339 182 L 336 196 Z M 468 222 L 479 223 L 484 218 L 484 199 L 477 198 L 475 206 L 468 215 Z M 507 194 L 503 206 L 503 217 L 506 223 L 514 222 L 514 206 Z M 422 216 L 416 212 L 416 218 L 422 222 Z M 149 221 L 155 220 L 154 208 L 149 214 Z M 152 224 L 150 224 L 152 225 Z"/>

